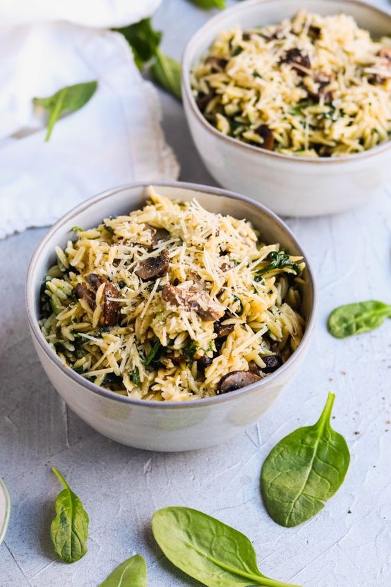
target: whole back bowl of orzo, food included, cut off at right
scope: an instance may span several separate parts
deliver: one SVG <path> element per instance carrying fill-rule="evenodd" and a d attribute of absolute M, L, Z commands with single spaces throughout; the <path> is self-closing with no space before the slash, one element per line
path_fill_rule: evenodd
<path fill-rule="evenodd" d="M 182 94 L 224 187 L 278 214 L 347 210 L 391 179 L 391 15 L 353 0 L 249 0 L 189 41 Z"/>

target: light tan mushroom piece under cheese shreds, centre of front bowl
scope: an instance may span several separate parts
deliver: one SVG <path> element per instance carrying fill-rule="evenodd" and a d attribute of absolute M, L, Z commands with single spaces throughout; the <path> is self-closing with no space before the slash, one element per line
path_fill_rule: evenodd
<path fill-rule="evenodd" d="M 225 307 L 215 302 L 205 289 L 200 289 L 195 284 L 186 289 L 166 284 L 162 289 L 162 298 L 173 306 L 193 309 L 205 321 L 219 320 L 225 314 Z"/>

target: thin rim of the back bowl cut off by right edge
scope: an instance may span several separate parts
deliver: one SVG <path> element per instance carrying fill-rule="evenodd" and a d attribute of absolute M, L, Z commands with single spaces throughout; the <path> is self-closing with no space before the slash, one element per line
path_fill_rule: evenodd
<path fill-rule="evenodd" d="M 322 3 L 324 3 L 325 5 L 327 5 L 328 0 L 318 0 Z M 333 165 L 333 164 L 347 164 L 348 162 L 356 162 L 365 158 L 370 158 L 370 157 L 374 157 L 375 155 L 378 155 L 379 153 L 383 153 L 383 151 L 387 151 L 389 148 L 391 148 L 391 139 L 388 139 L 388 141 L 381 143 L 379 145 L 376 145 L 370 149 L 367 149 L 367 151 L 363 151 L 362 153 L 352 153 L 351 155 L 341 155 L 340 157 L 335 157 L 335 158 L 327 158 L 327 157 L 319 157 L 319 158 L 311 158 L 311 157 L 304 157 L 302 155 L 286 155 L 285 153 L 277 153 L 276 151 L 268 151 L 267 149 L 261 148 L 261 147 L 257 147 L 248 143 L 245 143 L 243 141 L 240 141 L 239 139 L 234 139 L 234 137 L 229 137 L 227 135 L 224 135 L 223 133 L 220 133 L 220 130 L 217 130 L 217 128 L 215 128 L 214 126 L 212 126 L 207 119 L 205 119 L 205 117 L 202 115 L 202 113 L 200 112 L 200 109 L 198 108 L 197 104 L 195 103 L 195 98 L 193 96 L 193 92 L 191 90 L 191 85 L 190 85 L 190 70 L 191 70 L 191 59 L 189 57 L 189 53 L 191 53 L 191 51 L 193 50 L 193 45 L 197 45 L 198 42 L 200 42 L 200 40 L 202 40 L 203 35 L 205 34 L 205 31 L 208 31 L 209 28 L 211 28 L 212 26 L 214 26 L 214 24 L 218 23 L 218 22 L 225 22 L 225 19 L 227 18 L 227 16 L 229 17 L 230 15 L 234 14 L 234 13 L 240 13 L 240 12 L 244 12 L 245 10 L 247 10 L 248 8 L 252 8 L 254 6 L 259 6 L 260 4 L 266 4 L 266 3 L 278 3 L 279 0 L 246 0 L 244 2 L 241 2 L 240 4 L 236 4 L 235 6 L 232 6 L 231 8 L 227 8 L 226 10 L 224 10 L 223 12 L 220 12 L 220 14 L 214 16 L 213 18 L 209 19 L 205 24 L 203 24 L 200 28 L 198 28 L 197 31 L 195 31 L 195 33 L 190 37 L 189 41 L 186 43 L 186 46 L 184 48 L 184 52 L 182 54 L 182 67 L 181 67 L 181 80 L 182 80 L 182 96 L 184 97 L 184 101 L 187 101 L 187 103 L 189 104 L 189 107 L 191 109 L 191 113 L 193 114 L 193 116 L 195 117 L 195 119 L 197 119 L 198 123 L 201 124 L 201 126 L 207 130 L 207 132 L 211 135 L 213 135 L 214 137 L 218 138 L 219 140 L 226 142 L 227 144 L 230 144 L 232 146 L 236 146 L 238 148 L 242 148 L 247 150 L 247 153 L 258 153 L 258 155 L 260 156 L 266 156 L 268 158 L 274 158 L 276 161 L 280 160 L 281 162 L 286 161 L 288 162 L 297 162 L 300 164 L 304 164 L 304 163 L 308 163 L 308 164 L 312 164 L 312 165 Z M 372 10 L 372 12 L 376 12 L 379 14 L 379 16 L 381 17 L 385 17 L 390 21 L 391 24 L 391 13 L 387 12 L 385 10 L 382 10 L 381 8 L 379 8 L 378 6 L 374 6 L 370 3 L 367 3 L 363 0 L 338 0 L 338 2 L 340 4 L 345 4 L 347 6 L 351 6 L 351 5 L 356 5 L 356 6 L 360 6 L 360 7 L 364 7 L 367 8 L 368 10 Z M 302 4 L 303 6 L 305 5 L 306 0 L 302 0 Z M 223 28 L 222 28 L 223 30 Z M 185 108 L 185 112 L 186 112 L 186 108 Z M 186 112 L 187 114 L 187 112 Z"/>

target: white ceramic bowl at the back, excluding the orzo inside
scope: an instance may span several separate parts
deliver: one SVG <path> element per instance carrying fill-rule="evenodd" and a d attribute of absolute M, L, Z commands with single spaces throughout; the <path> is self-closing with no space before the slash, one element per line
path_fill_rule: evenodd
<path fill-rule="evenodd" d="M 341 212 L 381 191 L 391 179 L 391 142 L 343 158 L 281 155 L 226 137 L 202 116 L 191 92 L 189 71 L 220 31 L 280 22 L 300 9 L 333 15 L 346 12 L 376 37 L 389 35 L 391 15 L 355 0 L 249 0 L 202 26 L 182 59 L 184 111 L 195 146 L 214 178 L 277 214 L 315 216 Z"/>

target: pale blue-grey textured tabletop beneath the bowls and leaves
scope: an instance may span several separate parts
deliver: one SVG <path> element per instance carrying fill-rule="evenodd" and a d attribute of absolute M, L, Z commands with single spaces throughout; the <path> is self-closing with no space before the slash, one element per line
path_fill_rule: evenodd
<path fill-rule="evenodd" d="M 165 33 L 163 49 L 179 58 L 210 15 L 186 0 L 164 0 L 155 17 Z M 182 180 L 213 184 L 180 104 L 161 96 Z M 0 587 L 96 586 L 135 552 L 146 557 L 148 585 L 195 587 L 173 572 L 150 533 L 153 511 L 174 504 L 247 534 L 268 576 L 305 587 L 390 587 L 391 322 L 345 341 L 332 339 L 325 326 L 336 305 L 368 298 L 391 303 L 390 196 L 339 216 L 288 224 L 311 255 L 320 286 L 318 326 L 302 371 L 259 425 L 228 445 L 187 454 L 123 447 L 64 406 L 37 361 L 24 312 L 26 266 L 45 230 L 0 241 L 0 474 L 12 500 Z M 318 516 L 284 529 L 261 503 L 261 463 L 282 436 L 318 418 L 329 389 L 337 395 L 333 426 L 351 450 L 349 473 Z M 49 543 L 60 491 L 51 466 L 80 495 L 91 520 L 89 552 L 73 565 L 55 561 Z"/>

